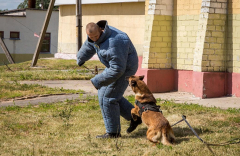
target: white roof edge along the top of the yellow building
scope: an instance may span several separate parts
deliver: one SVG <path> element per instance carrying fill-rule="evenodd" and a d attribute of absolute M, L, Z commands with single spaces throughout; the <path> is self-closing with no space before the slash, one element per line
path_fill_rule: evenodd
<path fill-rule="evenodd" d="M 145 2 L 145 0 L 82 0 L 82 4 Z M 76 0 L 56 0 L 55 5 L 73 5 Z"/>

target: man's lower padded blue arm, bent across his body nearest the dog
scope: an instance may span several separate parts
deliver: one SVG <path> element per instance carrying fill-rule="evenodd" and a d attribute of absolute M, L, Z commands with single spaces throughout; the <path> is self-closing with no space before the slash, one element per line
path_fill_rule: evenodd
<path fill-rule="evenodd" d="M 130 40 L 116 40 L 113 46 L 106 51 L 110 67 L 91 79 L 95 88 L 107 86 L 122 76 L 127 66 L 129 45 Z"/>

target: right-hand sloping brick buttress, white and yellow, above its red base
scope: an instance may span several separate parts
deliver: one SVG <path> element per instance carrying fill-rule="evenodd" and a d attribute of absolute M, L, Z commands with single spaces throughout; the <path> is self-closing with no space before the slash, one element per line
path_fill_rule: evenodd
<path fill-rule="evenodd" d="M 203 0 L 193 70 L 226 71 L 227 0 Z"/>

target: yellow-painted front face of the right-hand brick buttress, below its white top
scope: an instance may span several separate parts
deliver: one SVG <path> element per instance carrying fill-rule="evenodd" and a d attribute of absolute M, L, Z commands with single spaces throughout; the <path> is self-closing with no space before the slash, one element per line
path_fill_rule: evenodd
<path fill-rule="evenodd" d="M 226 14 L 208 14 L 202 71 L 226 71 Z"/>

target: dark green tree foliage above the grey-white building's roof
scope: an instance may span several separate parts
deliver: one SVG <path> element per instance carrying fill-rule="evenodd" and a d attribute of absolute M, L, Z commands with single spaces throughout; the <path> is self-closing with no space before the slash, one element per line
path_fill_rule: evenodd
<path fill-rule="evenodd" d="M 49 3 L 50 0 L 36 0 L 36 9 L 47 9 Z M 28 8 L 28 0 L 24 0 L 24 2 L 20 3 L 17 8 L 18 9 Z M 57 6 L 54 7 L 54 9 L 57 8 L 58 8 Z"/>

